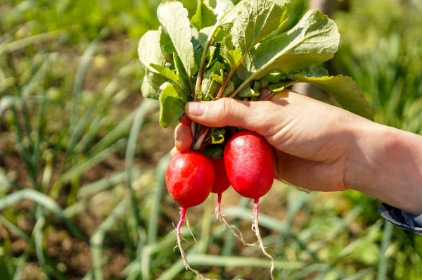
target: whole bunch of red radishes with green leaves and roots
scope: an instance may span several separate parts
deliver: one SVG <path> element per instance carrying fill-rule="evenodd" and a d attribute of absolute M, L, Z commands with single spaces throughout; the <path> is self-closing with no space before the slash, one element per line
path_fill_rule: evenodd
<path fill-rule="evenodd" d="M 359 86 L 343 75 L 330 76 L 316 68 L 338 50 L 338 28 L 319 11 L 297 18 L 294 0 L 198 0 L 196 13 L 177 0 L 162 0 L 157 9 L 160 27 L 149 30 L 138 46 L 145 75 L 144 97 L 160 101 L 160 125 L 177 125 L 189 101 L 236 98 L 267 100 L 298 82 L 321 87 L 343 108 L 371 119 L 371 107 Z M 196 82 L 195 82 L 196 81 Z M 269 91 L 267 96 L 261 94 Z M 240 231 L 222 217 L 222 193 L 233 188 L 255 202 L 252 229 L 262 251 L 271 259 L 258 228 L 258 201 L 274 179 L 271 146 L 255 132 L 234 127 L 212 128 L 191 122 L 191 151 L 175 156 L 167 170 L 167 189 L 181 206 L 177 241 L 186 210 L 218 194 L 217 217 L 245 245 Z M 222 157 L 212 158 L 218 150 Z M 253 244 L 254 246 L 257 244 Z M 198 278 L 199 272 L 191 269 Z"/>

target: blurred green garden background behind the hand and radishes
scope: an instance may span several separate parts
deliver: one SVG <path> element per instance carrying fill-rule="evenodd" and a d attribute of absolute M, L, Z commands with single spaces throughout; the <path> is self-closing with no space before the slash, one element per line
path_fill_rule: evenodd
<path fill-rule="evenodd" d="M 196 1 L 182 1 L 192 15 Z M 294 25 L 308 8 L 294 0 Z M 377 122 L 422 134 L 422 1 L 331 1 L 351 75 Z M 143 100 L 136 46 L 158 0 L 0 1 L 0 279 L 194 279 L 174 250 L 164 176 L 173 130 Z M 334 6 L 330 6 L 333 8 Z M 328 8 L 330 8 L 328 7 Z M 334 11 L 335 10 L 335 11 Z M 216 279 L 267 279 L 269 261 L 224 231 L 214 195 L 188 211 L 188 260 Z M 278 279 L 422 279 L 422 236 L 358 193 L 276 184 L 260 227 Z M 245 239 L 252 207 L 222 202 Z"/>

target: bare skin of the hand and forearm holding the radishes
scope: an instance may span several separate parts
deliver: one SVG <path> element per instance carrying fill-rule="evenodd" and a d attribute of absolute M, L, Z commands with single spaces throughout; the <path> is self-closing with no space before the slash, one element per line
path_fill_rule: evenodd
<path fill-rule="evenodd" d="M 264 136 L 276 176 L 311 191 L 354 189 L 422 214 L 422 136 L 371 122 L 285 90 L 269 101 L 190 102 L 175 130 L 172 156 L 190 148 L 189 119 Z"/>

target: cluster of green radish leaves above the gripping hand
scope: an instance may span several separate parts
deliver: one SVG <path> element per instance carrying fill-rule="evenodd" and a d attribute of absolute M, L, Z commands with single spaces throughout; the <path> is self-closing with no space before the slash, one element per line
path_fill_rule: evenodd
<path fill-rule="evenodd" d="M 146 69 L 141 90 L 145 97 L 160 99 L 162 127 L 177 124 L 194 97 L 259 101 L 262 88 L 281 91 L 296 82 L 316 84 L 346 110 L 372 119 L 369 103 L 350 77 L 315 68 L 338 49 L 340 34 L 333 20 L 308 11 L 283 32 L 288 18 L 298 16 L 289 0 L 216 3 L 212 8 L 209 1 L 198 0 L 189 20 L 180 2 L 162 1 L 160 29 L 146 32 L 139 42 L 139 60 Z"/>

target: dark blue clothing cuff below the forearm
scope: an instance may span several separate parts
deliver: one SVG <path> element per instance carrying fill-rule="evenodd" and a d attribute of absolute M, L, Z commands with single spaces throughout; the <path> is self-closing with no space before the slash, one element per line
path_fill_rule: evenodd
<path fill-rule="evenodd" d="M 386 203 L 381 204 L 380 214 L 388 222 L 422 235 L 422 215 L 416 216 Z"/>

